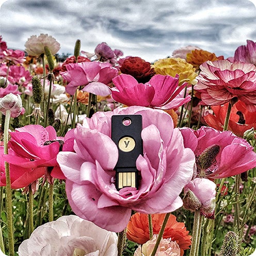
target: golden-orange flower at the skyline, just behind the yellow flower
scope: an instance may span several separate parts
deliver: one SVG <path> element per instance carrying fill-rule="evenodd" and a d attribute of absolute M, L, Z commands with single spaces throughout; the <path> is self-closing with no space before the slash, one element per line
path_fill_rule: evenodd
<path fill-rule="evenodd" d="M 207 60 L 218 60 L 218 57 L 214 53 L 210 53 L 204 50 L 193 50 L 191 53 L 187 54 L 187 62 L 192 64 L 196 70 L 199 69 L 199 66 Z"/>

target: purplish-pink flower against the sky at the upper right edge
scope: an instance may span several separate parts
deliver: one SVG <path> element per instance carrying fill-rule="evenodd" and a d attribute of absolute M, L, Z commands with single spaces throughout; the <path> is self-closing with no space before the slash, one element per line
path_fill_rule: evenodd
<path fill-rule="evenodd" d="M 247 40 L 247 45 L 241 45 L 235 50 L 235 61 L 252 63 L 256 66 L 256 42 Z"/>

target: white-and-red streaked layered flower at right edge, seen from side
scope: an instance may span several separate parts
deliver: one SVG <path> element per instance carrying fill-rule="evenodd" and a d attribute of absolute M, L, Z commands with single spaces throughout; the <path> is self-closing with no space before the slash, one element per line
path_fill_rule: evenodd
<path fill-rule="evenodd" d="M 216 106 L 235 98 L 243 101 L 250 112 L 256 110 L 256 67 L 245 62 L 206 61 L 201 66 L 195 89 L 202 103 Z"/>

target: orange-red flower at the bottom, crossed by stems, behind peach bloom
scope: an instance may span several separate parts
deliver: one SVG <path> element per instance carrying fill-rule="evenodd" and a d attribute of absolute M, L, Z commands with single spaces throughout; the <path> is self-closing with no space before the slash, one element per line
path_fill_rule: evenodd
<path fill-rule="evenodd" d="M 158 234 L 165 214 L 152 214 L 153 233 Z M 188 235 L 189 231 L 186 229 L 183 222 L 178 222 L 174 215 L 170 215 L 163 238 L 170 238 L 176 241 L 181 248 L 181 255 L 184 250 L 189 249 L 191 245 L 191 236 Z M 145 244 L 149 241 L 149 221 L 148 215 L 143 213 L 135 213 L 127 225 L 127 238 L 138 244 Z"/>

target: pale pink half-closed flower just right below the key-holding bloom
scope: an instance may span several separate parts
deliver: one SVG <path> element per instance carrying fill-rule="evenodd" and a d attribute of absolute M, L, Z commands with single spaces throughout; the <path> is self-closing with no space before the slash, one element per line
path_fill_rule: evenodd
<path fill-rule="evenodd" d="M 204 178 L 196 178 L 184 187 L 184 208 L 196 211 L 206 218 L 214 218 L 216 184 Z"/>

